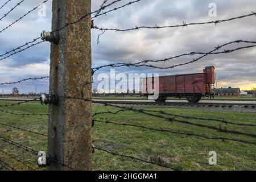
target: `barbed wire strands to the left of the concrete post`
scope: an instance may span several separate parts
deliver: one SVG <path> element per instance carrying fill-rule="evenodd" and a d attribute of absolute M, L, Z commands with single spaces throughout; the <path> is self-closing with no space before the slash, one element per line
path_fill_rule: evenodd
<path fill-rule="evenodd" d="M 12 13 L 14 10 L 18 9 L 18 7 L 22 6 L 22 3 L 24 2 L 25 0 L 22 0 L 22 1 L 19 1 L 18 3 L 16 3 L 15 6 L 11 7 L 11 9 L 9 11 L 7 11 L 7 13 L 3 14 L 0 18 L 0 20 L 2 21 L 3 19 L 5 19 L 10 13 Z M 1 10 L 1 13 L 2 13 L 2 9 L 3 7 L 5 7 L 8 3 L 10 3 L 11 0 L 9 1 L 6 1 L 1 7 L 0 7 L 0 10 Z M 33 11 L 35 11 L 36 9 L 38 9 L 40 6 L 43 5 L 43 3 L 46 3 L 48 2 L 48 0 L 46 1 L 43 1 L 42 3 L 40 3 L 39 5 L 35 6 L 33 9 L 27 11 L 26 14 L 23 14 L 22 16 L 20 16 L 19 18 L 16 18 L 14 20 L 14 22 L 11 22 L 8 26 L 2 28 L 2 30 L 0 31 L 0 33 L 2 33 L 3 31 L 6 31 L 7 29 L 9 29 L 10 27 L 14 26 L 16 23 L 18 23 L 20 20 L 22 20 L 23 18 L 25 18 L 28 14 L 31 14 Z M 44 41 L 40 40 L 40 37 L 39 38 L 35 38 L 33 39 L 32 41 L 28 41 L 26 43 L 24 43 L 22 46 L 18 46 L 16 48 L 13 48 L 9 51 L 6 51 L 4 53 L 1 53 L 0 55 L 0 60 L 5 60 L 13 55 L 16 55 L 20 52 L 23 52 L 31 47 L 34 47 L 40 43 L 43 43 Z M 1 51 L 2 52 L 2 51 Z M 22 80 L 19 80 L 19 81 L 15 81 L 15 82 L 4 82 L 4 83 L 1 83 L 0 85 L 13 85 L 13 84 L 20 84 L 21 82 L 24 82 L 24 81 L 37 81 L 37 80 L 43 80 L 43 79 L 46 79 L 46 78 L 49 78 L 49 76 L 44 76 L 44 77 L 34 77 L 34 78 L 26 78 L 26 79 L 22 79 Z M 48 114 L 34 114 L 34 113 L 29 113 L 30 111 L 27 111 L 26 113 L 16 113 L 14 112 L 13 110 L 15 109 L 11 109 L 13 108 L 14 106 L 19 106 L 21 104 L 28 104 L 29 102 L 35 102 L 36 99 L 32 99 L 32 100 L 27 100 L 27 101 L 22 101 L 22 102 L 15 102 L 15 104 L 5 104 L 5 105 L 0 105 L 1 107 L 1 113 L 6 113 L 8 115 L 16 115 L 16 116 L 19 116 L 19 117 L 35 117 L 35 116 L 47 116 Z M 7 110 L 2 110 L 2 108 L 5 107 Z M 16 121 L 16 119 L 15 119 Z M 37 122 L 37 121 L 35 121 Z M 43 137 L 46 139 L 47 137 L 47 134 L 46 133 L 40 133 L 38 132 L 37 130 L 31 130 L 31 129 L 27 129 L 27 126 L 26 127 L 20 127 L 19 125 L 19 122 L 11 122 L 11 121 L 3 121 L 1 119 L 1 123 L 0 125 L 2 126 L 1 129 L 8 129 L 7 131 L 8 132 L 15 132 L 15 131 L 22 131 L 24 132 L 24 135 L 26 137 L 32 137 L 32 138 L 38 138 L 38 136 L 40 137 Z M 31 124 L 29 124 L 31 125 Z M 38 150 L 34 150 L 30 147 L 27 147 L 27 146 L 24 146 L 22 143 L 27 143 L 27 140 L 24 139 L 24 141 L 22 142 L 15 142 L 13 140 L 10 140 L 9 138 L 10 137 L 3 137 L 3 133 L 5 132 L 2 132 L 2 130 L 0 131 L 0 144 L 1 144 L 1 150 L 0 150 L 0 154 L 1 154 L 1 157 L 0 157 L 0 168 L 4 168 L 5 170 L 11 170 L 11 171 L 15 171 L 16 169 L 19 170 L 20 168 L 20 164 L 22 166 L 24 166 L 24 168 L 28 169 L 28 170 L 31 170 L 31 171 L 34 171 L 36 169 L 38 169 L 38 167 L 36 167 L 36 163 L 33 163 L 31 164 L 30 162 L 28 162 L 27 160 L 25 161 L 23 158 L 20 158 L 20 154 L 19 154 L 19 150 L 23 150 L 23 152 L 29 152 L 30 154 L 32 154 L 35 159 L 35 162 L 36 162 L 36 155 L 38 155 Z M 31 134 L 31 136 L 28 136 L 28 134 Z M 16 136 L 16 135 L 15 135 Z M 16 140 L 16 138 L 14 137 L 14 139 Z M 28 142 L 30 143 L 30 142 Z M 8 145 L 8 146 L 7 146 Z M 13 150 L 10 150 L 10 147 L 16 147 L 14 148 Z M 18 149 L 18 150 L 17 150 Z M 11 151 L 16 151 L 16 152 L 11 152 Z M 32 158 L 33 159 L 33 158 Z M 34 160 L 33 159 L 33 160 Z M 13 162 L 11 162 L 11 160 Z M 16 168 L 17 166 L 19 166 L 18 168 Z"/>

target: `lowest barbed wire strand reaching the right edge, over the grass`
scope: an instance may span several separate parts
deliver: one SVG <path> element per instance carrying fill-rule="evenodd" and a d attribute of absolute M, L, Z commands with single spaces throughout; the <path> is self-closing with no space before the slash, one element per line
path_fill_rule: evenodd
<path fill-rule="evenodd" d="M 241 143 L 246 143 L 246 144 L 256 144 L 256 142 L 250 142 L 250 141 L 241 140 L 241 139 L 225 138 L 225 137 L 208 137 L 208 136 L 205 136 L 205 135 L 200 135 L 200 134 L 195 134 L 195 133 L 185 133 L 185 132 L 173 131 L 173 130 L 167 130 L 167 129 L 155 129 L 155 128 L 152 128 L 152 127 L 141 126 L 141 125 L 133 125 L 133 124 L 130 124 L 130 123 L 118 123 L 118 122 L 112 122 L 112 121 L 101 121 L 101 120 L 98 120 L 98 119 L 93 119 L 93 122 L 100 122 L 100 123 L 106 123 L 106 124 L 109 123 L 109 124 L 119 125 L 119 126 L 131 126 L 131 127 L 137 127 L 139 129 L 167 132 L 167 133 L 172 133 L 172 134 L 181 134 L 181 135 L 186 135 L 186 136 L 200 137 L 200 138 L 204 138 L 204 139 L 222 140 L 222 142 L 225 142 L 226 140 L 230 140 L 232 142 L 241 142 Z"/>

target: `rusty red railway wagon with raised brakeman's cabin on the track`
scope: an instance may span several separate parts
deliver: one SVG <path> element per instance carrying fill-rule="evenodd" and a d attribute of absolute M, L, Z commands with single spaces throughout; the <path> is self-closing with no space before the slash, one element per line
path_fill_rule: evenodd
<path fill-rule="evenodd" d="M 214 67 L 205 67 L 203 73 L 192 73 L 186 75 L 160 76 L 159 78 L 159 97 L 156 102 L 164 102 L 167 97 L 187 98 L 193 104 L 201 100 L 201 97 L 214 97 L 212 92 L 215 83 Z M 151 84 L 150 84 L 151 82 Z M 149 86 L 154 89 L 155 78 L 143 78 L 143 93 L 150 96 Z"/>

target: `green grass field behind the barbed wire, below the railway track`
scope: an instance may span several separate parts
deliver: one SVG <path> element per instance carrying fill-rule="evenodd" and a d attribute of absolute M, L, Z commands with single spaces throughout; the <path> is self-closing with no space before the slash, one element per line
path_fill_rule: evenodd
<path fill-rule="evenodd" d="M 13 102 L 0 101 L 0 105 Z M 14 102 L 15 103 L 15 102 Z M 12 107 L 1 107 L 2 110 L 13 111 L 15 113 L 47 113 L 48 107 L 39 103 L 23 104 Z M 142 109 L 142 108 L 141 108 Z M 171 108 L 146 108 L 147 110 L 163 110 L 167 113 L 188 115 L 204 118 L 225 118 L 226 121 L 240 123 L 256 123 L 256 113 L 239 113 L 227 111 L 203 111 Z M 93 105 L 93 113 L 102 111 L 117 111 L 113 107 Z M 9 124 L 47 134 L 47 116 L 17 116 L 0 112 L 0 123 Z M 243 139 L 256 142 L 255 138 L 243 135 L 220 133 L 215 130 L 205 129 L 196 126 L 189 126 L 182 123 L 167 122 L 163 119 L 150 117 L 133 111 L 119 112 L 118 114 L 100 114 L 94 119 L 101 121 L 114 121 L 118 123 L 129 123 L 139 126 L 147 126 L 156 129 L 167 129 L 183 133 L 195 133 L 209 137 L 225 137 Z M 179 118 L 177 118 L 179 119 Z M 193 123 L 201 123 L 209 126 L 219 127 L 220 123 L 213 121 L 199 121 L 189 119 Z M 243 131 L 255 134 L 256 127 L 224 125 L 229 130 Z M 47 138 L 19 131 L 11 127 L 0 124 L 0 137 L 5 137 L 24 146 L 30 146 L 35 150 L 47 150 Z M 221 141 L 214 139 L 204 139 L 183 134 L 173 134 L 160 131 L 140 129 L 131 126 L 119 126 L 110 123 L 96 122 L 92 129 L 92 141 L 96 146 L 106 150 L 130 155 L 158 164 L 164 164 L 180 170 L 255 170 L 256 169 L 256 148 L 255 144 L 241 142 Z M 0 149 L 28 163 L 29 166 L 36 166 L 36 156 L 16 148 L 0 139 Z M 210 166 L 208 163 L 209 151 L 217 152 L 217 164 Z M 10 166 L 27 170 L 23 164 L 13 160 L 10 156 L 0 152 L 0 158 L 9 163 Z M 119 156 L 113 156 L 104 151 L 96 150 L 93 154 L 94 170 L 168 170 L 154 164 L 138 162 Z"/>

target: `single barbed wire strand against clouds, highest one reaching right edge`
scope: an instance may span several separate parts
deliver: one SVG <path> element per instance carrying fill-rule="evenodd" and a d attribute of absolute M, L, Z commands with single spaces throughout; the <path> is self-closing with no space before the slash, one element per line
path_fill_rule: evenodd
<path fill-rule="evenodd" d="M 246 15 L 241 15 L 241 16 L 236 16 L 236 17 L 233 17 L 233 18 L 229 18 L 229 19 L 222 19 L 222 20 L 214 20 L 214 21 L 209 21 L 209 22 L 201 22 L 201 23 L 185 23 L 183 21 L 183 24 L 177 24 L 177 25 L 172 25 L 172 26 L 158 26 L 158 25 L 155 25 L 154 27 L 148 27 L 148 26 L 136 26 L 134 28 L 126 28 L 126 29 L 118 29 L 118 28 L 100 28 L 100 27 L 97 27 L 97 26 L 94 26 L 93 28 L 94 29 L 98 29 L 98 30 L 101 30 L 101 31 L 121 31 L 121 32 L 125 32 L 125 31 L 131 31 L 131 30 L 139 30 L 139 29 L 142 29 L 142 28 L 148 28 L 148 29 L 159 29 L 159 28 L 174 28 L 174 27 L 188 27 L 188 26 L 193 26 L 193 25 L 202 25 L 202 24 L 215 24 L 217 25 L 218 23 L 223 23 L 223 22 L 229 22 L 229 21 L 232 21 L 232 20 L 235 20 L 235 19 L 241 19 L 241 18 L 246 18 L 246 17 L 249 17 L 249 16 L 255 16 L 256 13 L 254 12 L 251 12 L 250 14 L 246 14 Z"/>

